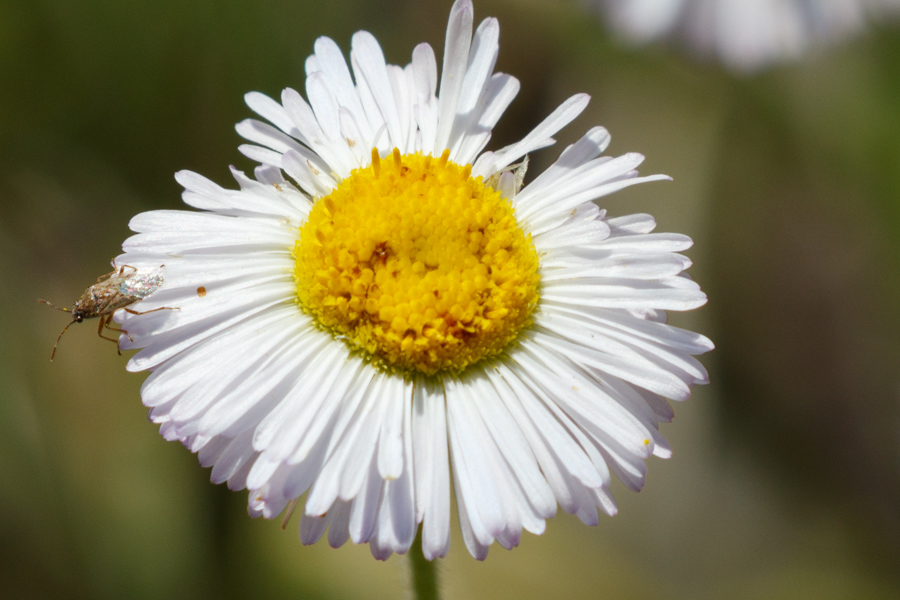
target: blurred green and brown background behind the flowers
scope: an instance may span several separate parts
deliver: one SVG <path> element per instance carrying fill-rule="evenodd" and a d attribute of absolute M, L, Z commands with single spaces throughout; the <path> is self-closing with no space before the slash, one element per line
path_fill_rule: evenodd
<path fill-rule="evenodd" d="M 172 175 L 252 170 L 243 94 L 303 87 L 319 35 L 368 29 L 390 62 L 441 54 L 450 0 L 0 0 L 0 595 L 399 598 L 404 557 L 301 546 L 246 515 L 140 404 L 142 375 L 73 327 L 69 305 L 134 214 L 180 208 Z M 596 528 L 560 514 L 487 561 L 459 537 L 447 598 L 900 597 L 900 29 L 738 77 L 612 41 L 575 2 L 480 0 L 522 92 L 492 147 L 565 97 L 647 156 L 652 183 L 606 198 L 691 235 L 712 385 L 663 426 L 674 457 L 615 488 Z"/>

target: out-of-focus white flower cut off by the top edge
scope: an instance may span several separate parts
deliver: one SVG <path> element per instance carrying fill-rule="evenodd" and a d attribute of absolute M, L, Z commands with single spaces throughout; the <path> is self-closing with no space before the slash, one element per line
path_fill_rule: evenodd
<path fill-rule="evenodd" d="M 684 39 L 738 71 L 798 58 L 861 31 L 900 0 L 593 0 L 636 43 Z"/>

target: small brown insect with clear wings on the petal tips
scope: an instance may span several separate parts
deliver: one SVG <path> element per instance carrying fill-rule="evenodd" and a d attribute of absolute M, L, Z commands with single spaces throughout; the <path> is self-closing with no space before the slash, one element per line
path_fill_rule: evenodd
<path fill-rule="evenodd" d="M 116 264 L 112 263 L 112 265 L 113 268 L 115 268 Z M 50 360 L 53 360 L 53 357 L 56 355 L 56 347 L 59 346 L 59 340 L 62 339 L 62 336 L 66 332 L 66 330 L 72 326 L 72 323 L 81 323 L 85 319 L 100 317 L 100 326 L 97 328 L 97 335 L 102 337 L 104 340 L 114 342 L 117 346 L 116 349 L 118 350 L 119 340 L 117 338 L 107 337 L 103 335 L 103 330 L 109 329 L 110 331 L 124 333 L 128 336 L 128 339 L 134 341 L 127 331 L 119 327 L 113 327 L 112 325 L 110 325 L 110 323 L 112 322 L 113 313 L 115 313 L 120 308 L 125 309 L 126 312 L 129 312 L 133 315 L 144 315 L 159 310 L 179 310 L 177 308 L 163 306 L 160 308 L 154 308 L 153 310 L 138 312 L 136 310 L 128 308 L 135 302 L 143 300 L 159 289 L 159 287 L 163 284 L 163 266 L 165 265 L 160 265 L 155 269 L 139 271 L 138 269 L 130 265 L 122 265 L 120 268 L 113 270 L 111 273 L 101 275 L 97 278 L 97 283 L 84 290 L 81 298 L 76 300 L 72 305 L 71 310 L 69 310 L 68 308 L 56 306 L 50 302 L 47 302 L 46 300 L 41 300 L 40 298 L 38 298 L 38 302 L 43 302 L 44 304 L 52 308 L 71 313 L 72 315 L 72 321 L 68 325 L 66 325 L 61 332 L 59 332 L 59 337 L 56 338 L 56 343 L 53 344 L 53 351 L 50 353 Z M 131 270 L 126 272 L 126 269 Z M 119 350 L 119 354 L 122 354 L 121 350 Z"/>

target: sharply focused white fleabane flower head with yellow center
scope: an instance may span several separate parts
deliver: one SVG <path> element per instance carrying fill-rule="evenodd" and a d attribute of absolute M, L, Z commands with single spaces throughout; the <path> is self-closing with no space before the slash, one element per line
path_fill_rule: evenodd
<path fill-rule="evenodd" d="M 642 181 L 638 154 L 601 156 L 588 131 L 523 186 L 526 155 L 586 106 L 577 95 L 521 141 L 485 151 L 515 78 L 493 73 L 495 19 L 472 33 L 454 4 L 438 93 L 432 49 L 385 63 L 366 32 L 350 66 L 327 38 L 306 97 L 247 103 L 237 127 L 261 163 L 240 189 L 180 172 L 202 212 L 136 216 L 119 264 L 165 283 L 117 314 L 152 373 L 141 394 L 162 435 L 248 488 L 254 516 L 302 499 L 300 537 L 409 550 L 450 545 L 450 495 L 479 559 L 541 533 L 557 505 L 614 514 L 610 473 L 632 490 L 658 431 L 707 374 L 712 344 L 665 324 L 702 305 L 683 235 L 594 200 Z M 162 314 L 162 313 L 166 314 Z"/>

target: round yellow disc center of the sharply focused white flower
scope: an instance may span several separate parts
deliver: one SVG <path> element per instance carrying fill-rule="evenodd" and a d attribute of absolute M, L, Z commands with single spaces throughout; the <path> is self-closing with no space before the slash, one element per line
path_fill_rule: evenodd
<path fill-rule="evenodd" d="M 319 199 L 294 248 L 302 309 L 391 371 L 459 372 L 530 324 L 538 256 L 472 166 L 398 150 Z"/>

